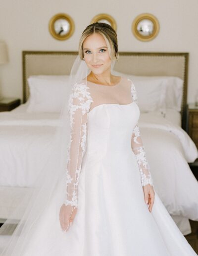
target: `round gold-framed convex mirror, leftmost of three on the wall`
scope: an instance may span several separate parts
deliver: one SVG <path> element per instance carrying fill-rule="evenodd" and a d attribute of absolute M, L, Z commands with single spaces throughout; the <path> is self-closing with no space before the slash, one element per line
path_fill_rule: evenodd
<path fill-rule="evenodd" d="M 49 20 L 49 32 L 57 40 L 66 40 L 74 33 L 74 21 L 65 13 L 58 13 Z"/>

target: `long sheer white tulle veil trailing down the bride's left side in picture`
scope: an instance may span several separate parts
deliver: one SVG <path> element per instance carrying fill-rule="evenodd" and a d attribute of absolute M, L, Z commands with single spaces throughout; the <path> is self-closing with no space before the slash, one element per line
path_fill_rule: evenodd
<path fill-rule="evenodd" d="M 114 64 L 115 61 L 112 61 L 111 70 Z M 0 235 L 6 234 L 10 228 L 16 227 L 10 238 L 6 237 L 8 241 L 4 249 L 0 251 L 0 256 L 26 255 L 24 253 L 25 248 L 31 241 L 32 234 L 39 232 L 39 227 L 43 225 L 43 220 L 48 215 L 47 212 L 52 201 L 54 214 L 56 214 L 56 217 L 59 216 L 60 207 L 66 199 L 66 165 L 70 144 L 69 95 L 76 83 L 81 83 L 83 79 L 87 83 L 87 75 L 90 71 L 85 61 L 82 61 L 78 55 L 72 65 L 69 82 L 65 84 L 65 103 L 57 120 L 54 134 L 50 138 L 49 151 L 48 153 L 43 152 L 43 154 L 48 155 L 44 157 L 45 162 L 35 166 L 40 175 L 34 185 L 28 189 L 28 193 L 26 193 L 18 207 L 0 227 Z M 19 219 L 17 216 L 21 211 L 23 216 L 20 216 Z M 59 228 L 61 229 L 61 227 Z M 52 243 L 55 242 L 55 234 L 53 233 L 55 233 L 54 230 L 51 230 L 51 234 L 48 233 L 48 239 L 51 239 Z"/>

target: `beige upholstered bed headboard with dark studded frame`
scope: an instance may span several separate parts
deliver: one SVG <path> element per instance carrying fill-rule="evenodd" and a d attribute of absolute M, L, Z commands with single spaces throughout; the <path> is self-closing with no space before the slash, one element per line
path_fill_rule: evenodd
<path fill-rule="evenodd" d="M 23 51 L 23 103 L 29 97 L 27 78 L 38 74 L 69 74 L 78 52 Z M 182 128 L 186 129 L 188 88 L 188 53 L 119 52 L 114 69 L 134 75 L 178 76 L 184 80 L 182 99 Z"/>

